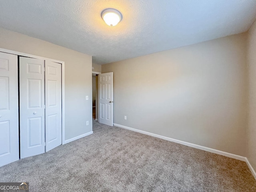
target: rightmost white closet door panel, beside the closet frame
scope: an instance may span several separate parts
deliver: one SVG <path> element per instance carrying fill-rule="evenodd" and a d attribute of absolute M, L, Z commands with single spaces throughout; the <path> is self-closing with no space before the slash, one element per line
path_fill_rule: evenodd
<path fill-rule="evenodd" d="M 62 144 L 61 64 L 45 61 L 46 151 Z"/>

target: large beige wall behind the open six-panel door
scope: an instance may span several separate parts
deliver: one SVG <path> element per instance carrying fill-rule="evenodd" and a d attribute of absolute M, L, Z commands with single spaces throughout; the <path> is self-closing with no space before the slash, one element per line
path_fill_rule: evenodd
<path fill-rule="evenodd" d="M 245 156 L 246 38 L 102 65 L 114 72 L 114 123 Z"/>

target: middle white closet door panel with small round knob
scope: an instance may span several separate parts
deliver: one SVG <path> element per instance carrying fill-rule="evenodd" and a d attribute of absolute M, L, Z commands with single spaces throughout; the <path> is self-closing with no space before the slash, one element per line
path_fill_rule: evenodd
<path fill-rule="evenodd" d="M 20 158 L 45 152 L 44 60 L 19 57 Z"/>

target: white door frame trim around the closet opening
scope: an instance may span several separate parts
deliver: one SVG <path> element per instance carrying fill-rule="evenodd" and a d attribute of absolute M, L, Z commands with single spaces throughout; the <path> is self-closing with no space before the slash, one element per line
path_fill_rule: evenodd
<path fill-rule="evenodd" d="M 55 59 L 50 59 L 50 58 L 46 58 L 46 57 L 40 57 L 40 56 L 36 56 L 36 55 L 32 55 L 32 54 L 26 54 L 26 53 L 22 53 L 22 52 L 18 52 L 18 51 L 12 51 L 12 50 L 8 50 L 8 49 L 3 49 L 0 48 L 0 52 L 4 52 L 4 53 L 9 53 L 9 54 L 13 54 L 13 55 L 18 55 L 18 56 L 24 56 L 24 57 L 31 57 L 31 58 L 36 58 L 36 59 L 43 59 L 43 60 L 48 60 L 48 61 L 52 61 L 52 62 L 56 62 L 56 63 L 60 63 L 61 64 L 61 89 L 62 89 L 62 93 L 61 93 L 61 99 L 62 99 L 62 145 L 65 144 L 65 62 L 64 61 L 59 61 L 59 60 L 55 60 Z"/>

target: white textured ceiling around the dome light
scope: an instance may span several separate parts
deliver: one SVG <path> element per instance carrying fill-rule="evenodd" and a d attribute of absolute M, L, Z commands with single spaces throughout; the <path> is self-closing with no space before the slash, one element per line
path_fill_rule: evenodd
<path fill-rule="evenodd" d="M 100 13 L 123 20 L 107 26 Z M 0 0 L 0 27 L 105 64 L 246 32 L 256 0 Z"/>

